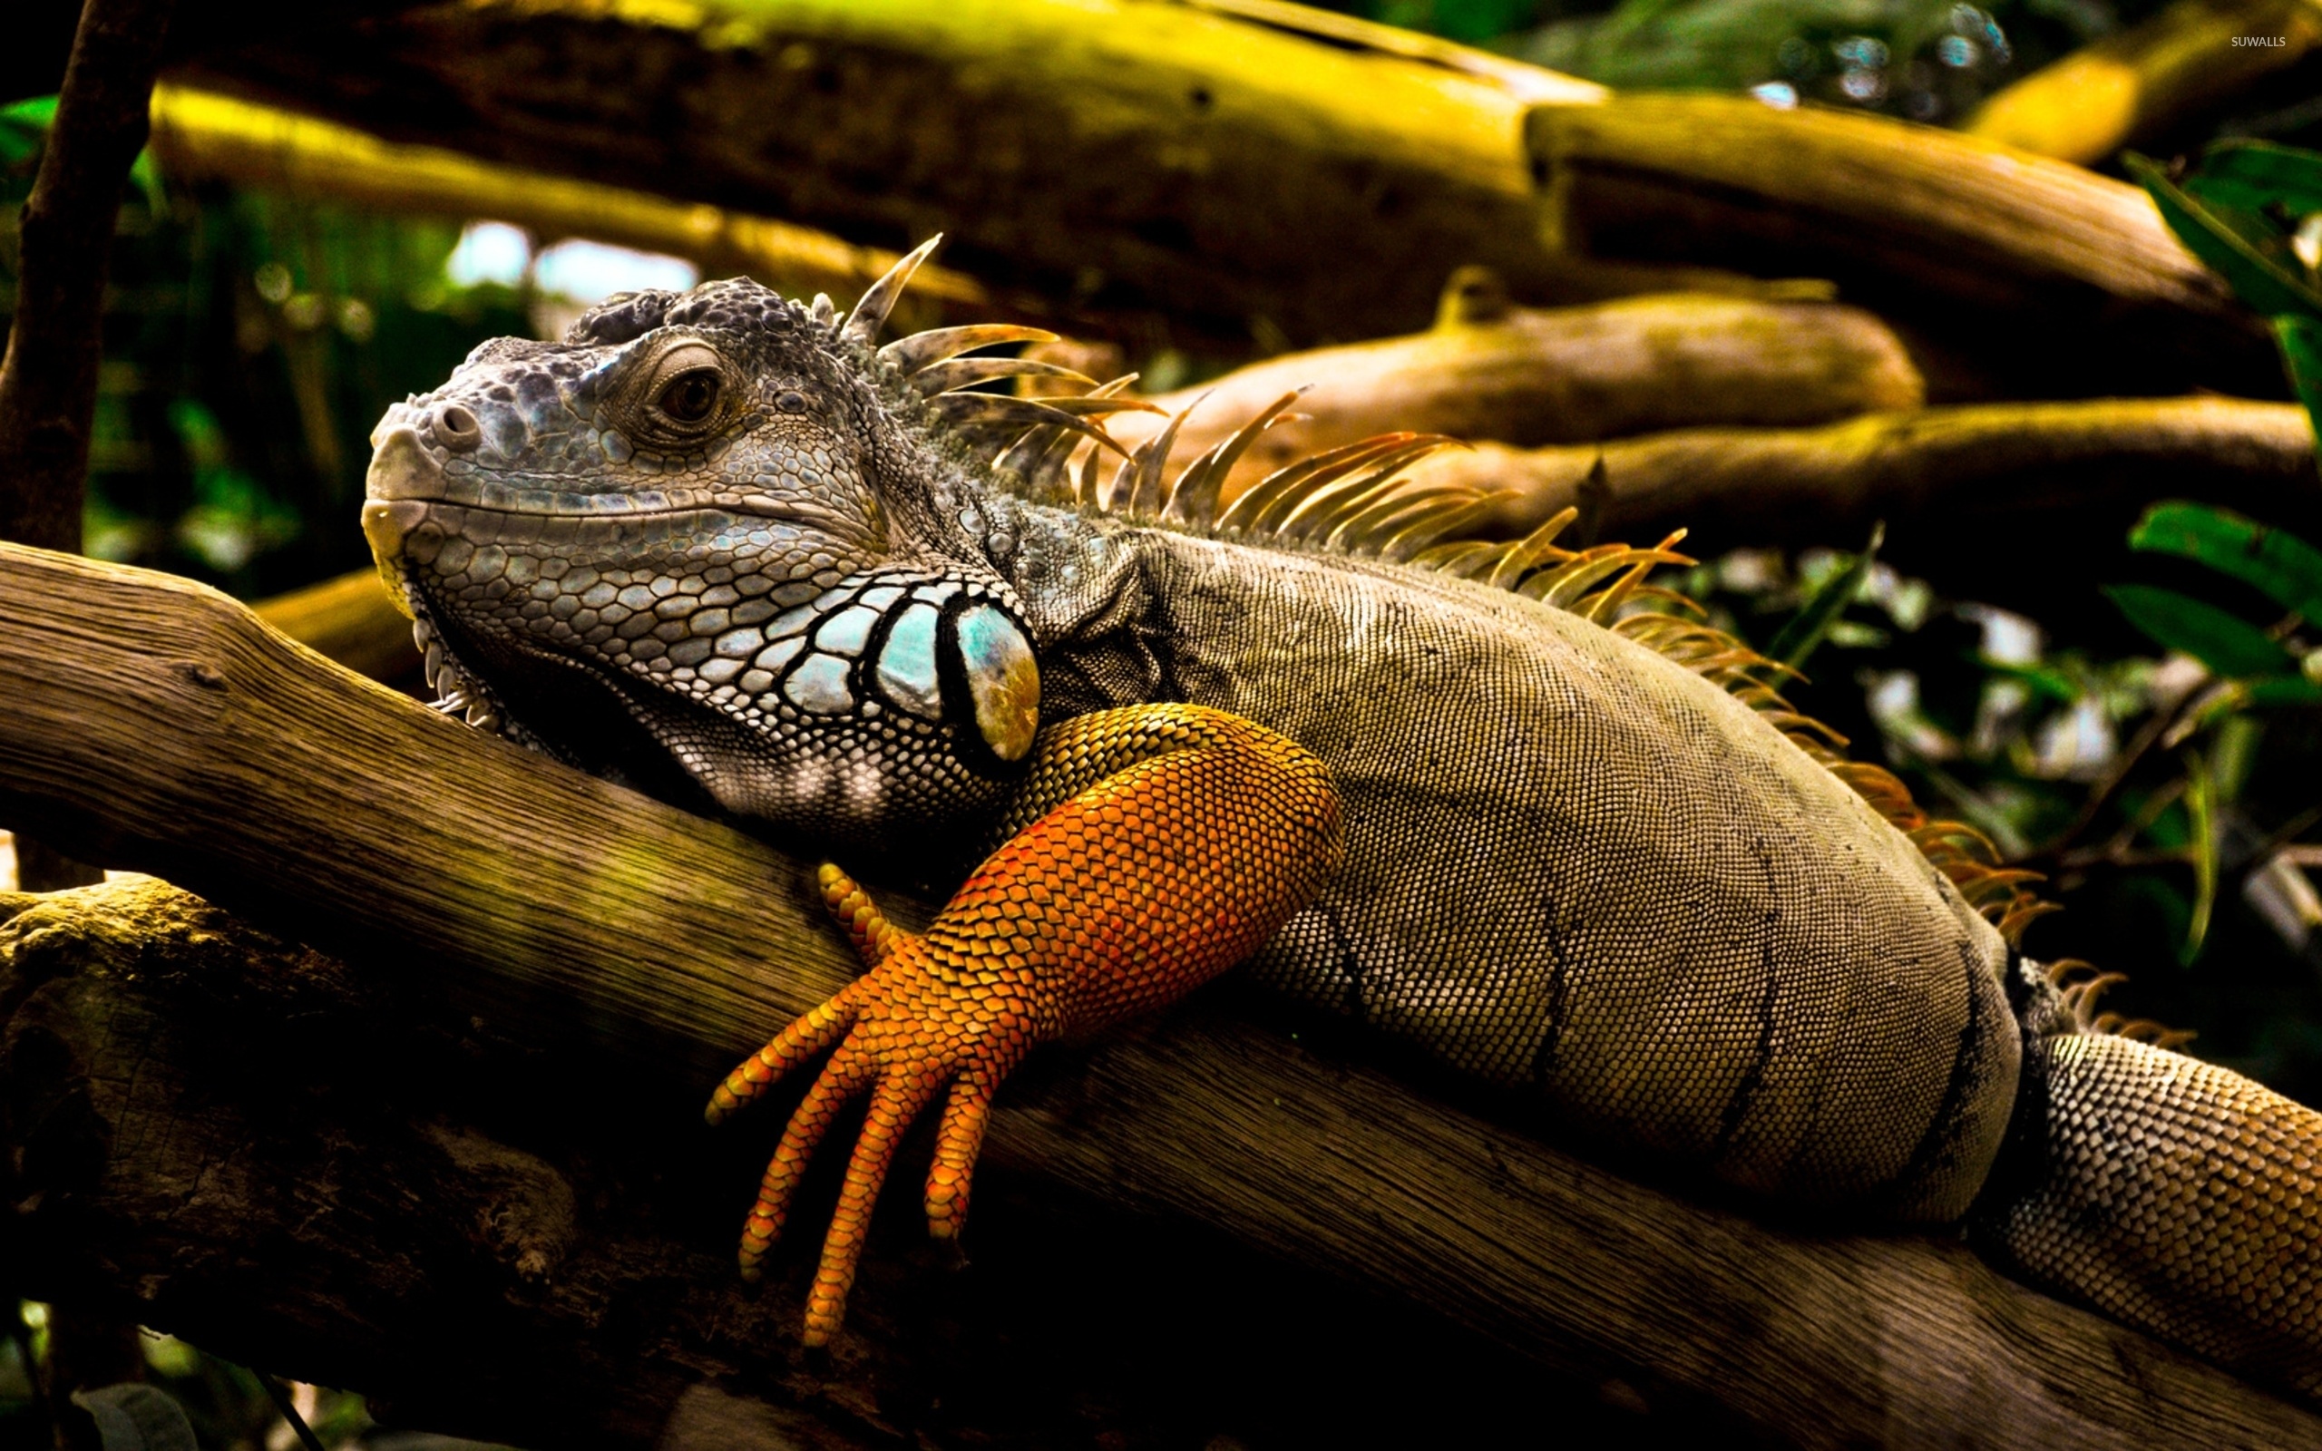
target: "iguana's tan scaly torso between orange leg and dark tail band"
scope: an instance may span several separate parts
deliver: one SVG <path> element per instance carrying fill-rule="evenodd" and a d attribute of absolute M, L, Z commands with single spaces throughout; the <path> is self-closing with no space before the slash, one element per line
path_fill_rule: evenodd
<path fill-rule="evenodd" d="M 1331 764 L 1347 864 L 1259 980 L 1744 1189 L 1967 1210 L 2015 1096 L 2006 945 L 1755 710 L 1507 590 L 1061 511 L 1019 527 L 1115 557 L 1082 569 L 1094 590 L 1015 580 L 1052 676 L 1233 710 Z"/>

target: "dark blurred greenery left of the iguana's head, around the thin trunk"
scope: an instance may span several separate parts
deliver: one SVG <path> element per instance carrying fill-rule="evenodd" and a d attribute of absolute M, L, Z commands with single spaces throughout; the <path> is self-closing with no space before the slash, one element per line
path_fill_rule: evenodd
<path fill-rule="evenodd" d="M 0 109 L 0 209 L 33 188 L 53 100 Z M 104 297 L 86 550 L 269 594 L 365 560 L 369 429 L 483 337 L 506 283 L 455 286 L 460 223 L 183 190 L 142 158 Z M 0 230 L 14 311 L 16 232 Z"/>

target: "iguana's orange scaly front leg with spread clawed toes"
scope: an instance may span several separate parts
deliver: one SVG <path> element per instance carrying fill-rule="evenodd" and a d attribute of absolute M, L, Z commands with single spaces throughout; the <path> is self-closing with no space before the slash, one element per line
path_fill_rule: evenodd
<path fill-rule="evenodd" d="M 831 1047 L 789 1119 L 741 1272 L 757 1279 L 799 1172 L 850 1098 L 871 1091 L 806 1307 L 806 1344 L 845 1314 L 871 1203 L 910 1121 L 950 1087 L 926 1177 L 938 1240 L 968 1214 L 991 1093 L 1036 1042 L 1159 1008 L 1259 950 L 1340 859 L 1319 759 L 1238 715 L 1131 706 L 1043 731 L 1019 815 L 929 924 L 896 931 L 836 866 L 822 891 L 868 973 L 789 1024 L 711 1098 L 711 1124 Z M 1050 806 L 1052 803 L 1052 806 Z"/>

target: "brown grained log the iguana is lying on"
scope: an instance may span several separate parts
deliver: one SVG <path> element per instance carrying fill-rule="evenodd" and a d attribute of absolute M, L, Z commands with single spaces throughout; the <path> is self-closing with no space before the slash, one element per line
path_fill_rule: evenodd
<path fill-rule="evenodd" d="M 834 936 L 766 889 L 799 866 L 764 843 L 481 738 L 216 592 L 0 548 L 0 824 L 163 868 L 383 982 L 534 1042 L 583 1031 L 652 1075 L 715 1073 L 845 982 Z M 1017 1084 L 987 1154 L 1551 1365 L 1651 1367 L 1802 1446 L 2322 1437 L 1953 1240 L 1772 1228 L 1495 1112 L 1182 1017 Z"/>

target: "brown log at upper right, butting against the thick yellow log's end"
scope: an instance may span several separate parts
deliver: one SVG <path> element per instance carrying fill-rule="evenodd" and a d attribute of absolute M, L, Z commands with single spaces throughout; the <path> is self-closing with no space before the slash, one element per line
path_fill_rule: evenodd
<path fill-rule="evenodd" d="M 1723 95 L 1539 107 L 1570 251 L 1830 276 L 2015 397 L 2287 397 L 2271 337 L 2139 188 L 1883 116 Z"/>

